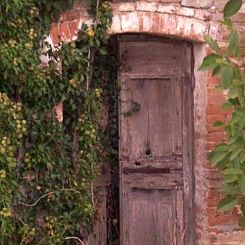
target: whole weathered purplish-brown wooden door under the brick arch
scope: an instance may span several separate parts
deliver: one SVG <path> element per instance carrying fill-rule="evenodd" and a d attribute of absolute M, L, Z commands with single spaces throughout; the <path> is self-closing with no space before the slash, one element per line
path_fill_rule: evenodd
<path fill-rule="evenodd" d="M 192 245 L 192 46 L 121 36 L 121 245 Z"/>

